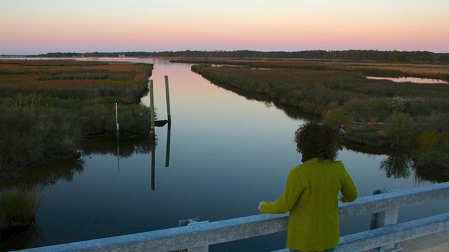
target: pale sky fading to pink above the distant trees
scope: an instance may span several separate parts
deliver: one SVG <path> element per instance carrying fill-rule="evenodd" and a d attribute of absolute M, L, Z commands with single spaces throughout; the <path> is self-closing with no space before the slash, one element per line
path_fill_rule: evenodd
<path fill-rule="evenodd" d="M 0 55 L 449 52 L 448 0 L 0 0 Z"/>

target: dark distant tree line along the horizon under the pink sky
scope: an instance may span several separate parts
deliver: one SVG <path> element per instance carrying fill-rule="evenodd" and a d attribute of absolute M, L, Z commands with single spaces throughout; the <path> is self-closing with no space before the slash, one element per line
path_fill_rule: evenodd
<path fill-rule="evenodd" d="M 256 50 L 183 50 L 161 52 L 48 52 L 32 57 L 202 57 L 202 58 L 283 58 L 325 59 L 375 62 L 426 62 L 448 63 L 449 53 L 429 51 L 382 51 L 382 50 L 303 50 L 303 51 L 256 51 Z"/>

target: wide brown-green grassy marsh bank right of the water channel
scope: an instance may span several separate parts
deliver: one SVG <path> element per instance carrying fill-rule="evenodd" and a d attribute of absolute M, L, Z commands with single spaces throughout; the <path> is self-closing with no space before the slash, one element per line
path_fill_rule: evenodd
<path fill-rule="evenodd" d="M 254 64 L 199 64 L 192 66 L 192 71 L 217 85 L 264 94 L 285 106 L 319 116 L 328 125 L 342 127 L 348 141 L 401 148 L 413 154 L 419 165 L 448 167 L 449 85 L 371 80 L 366 73 L 391 76 L 399 71 L 401 76 L 441 78 L 448 75 L 449 66 L 433 69 L 347 62 L 257 62 L 258 68 L 254 68 Z"/>

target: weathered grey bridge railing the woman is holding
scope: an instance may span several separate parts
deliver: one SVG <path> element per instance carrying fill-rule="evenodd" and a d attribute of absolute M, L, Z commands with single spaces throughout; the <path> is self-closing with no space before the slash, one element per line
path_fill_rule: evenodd
<path fill-rule="evenodd" d="M 340 204 L 340 219 L 371 214 L 373 229 L 341 237 L 335 251 L 363 251 L 379 247 L 398 251 L 401 250 L 397 244 L 399 241 L 449 230 L 449 213 L 397 223 L 398 209 L 445 199 L 449 199 L 449 183 L 395 190 Z M 208 251 L 212 244 L 284 231 L 287 220 L 286 214 L 260 214 L 25 251 L 177 251 L 186 248 L 189 251 Z"/>

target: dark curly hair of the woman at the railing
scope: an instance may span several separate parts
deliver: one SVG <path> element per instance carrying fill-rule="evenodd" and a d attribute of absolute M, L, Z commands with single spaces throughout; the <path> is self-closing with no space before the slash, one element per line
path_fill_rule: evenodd
<path fill-rule="evenodd" d="M 318 123 L 305 123 L 295 132 L 296 151 L 302 162 L 311 158 L 335 160 L 338 149 L 336 130 Z"/>

